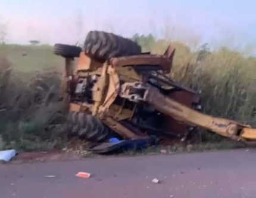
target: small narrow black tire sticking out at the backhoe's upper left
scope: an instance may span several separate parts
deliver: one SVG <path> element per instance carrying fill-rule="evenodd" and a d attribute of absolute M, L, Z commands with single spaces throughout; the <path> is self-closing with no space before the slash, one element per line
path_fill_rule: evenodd
<path fill-rule="evenodd" d="M 69 44 L 54 44 L 54 54 L 63 56 L 64 58 L 79 57 L 81 52 L 81 47 L 71 46 Z"/>

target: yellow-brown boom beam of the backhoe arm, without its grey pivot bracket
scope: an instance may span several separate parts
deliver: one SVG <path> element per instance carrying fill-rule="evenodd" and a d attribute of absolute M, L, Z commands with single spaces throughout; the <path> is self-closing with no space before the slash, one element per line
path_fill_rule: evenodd
<path fill-rule="evenodd" d="M 243 127 L 248 127 L 245 124 L 199 113 L 198 111 L 192 110 L 192 108 L 166 97 L 155 88 L 150 88 L 144 98 L 155 109 L 167 116 L 173 117 L 177 121 L 192 126 L 199 126 L 231 139 L 244 140 L 239 136 L 239 132 Z"/>

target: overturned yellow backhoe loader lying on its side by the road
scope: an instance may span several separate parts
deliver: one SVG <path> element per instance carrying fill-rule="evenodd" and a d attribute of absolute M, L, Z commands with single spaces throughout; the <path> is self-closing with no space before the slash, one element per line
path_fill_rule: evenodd
<path fill-rule="evenodd" d="M 65 58 L 68 134 L 92 142 L 151 135 L 188 139 L 203 127 L 235 140 L 255 140 L 250 126 L 201 113 L 199 93 L 172 81 L 175 49 L 142 53 L 135 42 L 90 31 L 83 49 L 55 44 Z"/>

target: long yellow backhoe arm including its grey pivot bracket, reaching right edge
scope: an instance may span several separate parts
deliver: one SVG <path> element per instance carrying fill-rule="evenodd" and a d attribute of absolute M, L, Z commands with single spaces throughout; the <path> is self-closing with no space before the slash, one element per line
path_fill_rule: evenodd
<path fill-rule="evenodd" d="M 136 103 L 148 103 L 161 113 L 171 116 L 180 122 L 203 127 L 221 136 L 235 140 L 256 140 L 256 129 L 233 120 L 199 113 L 161 94 L 158 89 L 140 82 L 123 84 L 120 96 Z"/>

